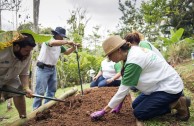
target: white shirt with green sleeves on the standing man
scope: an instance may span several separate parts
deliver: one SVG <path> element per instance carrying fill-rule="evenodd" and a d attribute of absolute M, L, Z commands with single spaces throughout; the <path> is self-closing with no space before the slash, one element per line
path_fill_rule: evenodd
<path fill-rule="evenodd" d="M 64 53 L 66 48 L 64 46 L 49 46 L 48 43 L 42 43 L 38 61 L 47 65 L 56 65 L 60 53 Z"/>

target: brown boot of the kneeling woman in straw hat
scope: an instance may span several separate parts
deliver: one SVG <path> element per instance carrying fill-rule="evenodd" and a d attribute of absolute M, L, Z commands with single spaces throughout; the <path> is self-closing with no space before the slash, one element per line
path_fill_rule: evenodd
<path fill-rule="evenodd" d="M 191 105 L 191 99 L 185 96 L 181 96 L 177 101 L 170 105 L 171 109 L 176 109 L 176 118 L 181 121 L 187 121 L 190 118 L 189 107 Z"/>

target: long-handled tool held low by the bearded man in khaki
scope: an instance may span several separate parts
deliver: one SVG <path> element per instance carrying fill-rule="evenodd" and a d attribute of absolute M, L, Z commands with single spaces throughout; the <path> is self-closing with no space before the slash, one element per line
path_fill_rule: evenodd
<path fill-rule="evenodd" d="M 7 88 L 6 86 L 0 88 L 0 91 L 14 93 L 14 94 L 20 94 L 20 95 L 26 95 L 26 92 L 19 91 L 15 88 L 11 88 L 11 87 Z M 52 97 L 45 97 L 45 96 L 38 95 L 38 94 L 32 94 L 32 96 L 37 97 L 37 98 L 49 99 L 49 100 L 53 100 L 53 101 L 65 102 L 64 100 L 61 100 L 61 99 L 52 98 Z"/>

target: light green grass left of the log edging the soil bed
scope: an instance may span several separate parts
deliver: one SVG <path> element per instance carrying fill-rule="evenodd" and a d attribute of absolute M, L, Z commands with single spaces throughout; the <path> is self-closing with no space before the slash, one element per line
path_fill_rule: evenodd
<path fill-rule="evenodd" d="M 81 91 L 81 86 L 76 86 L 78 88 L 78 91 Z M 89 88 L 89 84 L 83 84 L 83 89 Z M 58 98 L 60 97 L 62 94 L 64 94 L 66 91 L 71 90 L 72 87 L 68 87 L 68 88 L 64 88 L 64 89 L 58 89 L 55 96 Z M 32 112 L 32 104 L 33 104 L 33 99 L 30 98 L 26 98 L 26 109 L 27 109 L 27 114 L 30 114 Z M 7 111 L 7 103 L 4 102 L 2 104 L 0 104 L 0 117 L 6 117 L 8 119 L 3 119 L 2 121 L 0 121 L 0 126 L 4 126 L 8 123 L 11 123 L 17 119 L 19 119 L 18 117 L 18 112 L 15 108 L 14 105 L 12 105 L 12 109 Z"/>

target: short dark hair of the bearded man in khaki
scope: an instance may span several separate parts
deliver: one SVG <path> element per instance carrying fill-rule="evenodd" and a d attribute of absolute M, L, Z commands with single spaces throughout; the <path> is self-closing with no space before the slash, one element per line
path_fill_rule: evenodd
<path fill-rule="evenodd" d="M 13 46 L 19 45 L 21 48 L 24 48 L 26 46 L 31 46 L 31 47 L 35 47 L 36 46 L 34 37 L 31 34 L 22 33 L 22 35 L 24 36 L 24 38 L 22 40 L 14 42 Z"/>

